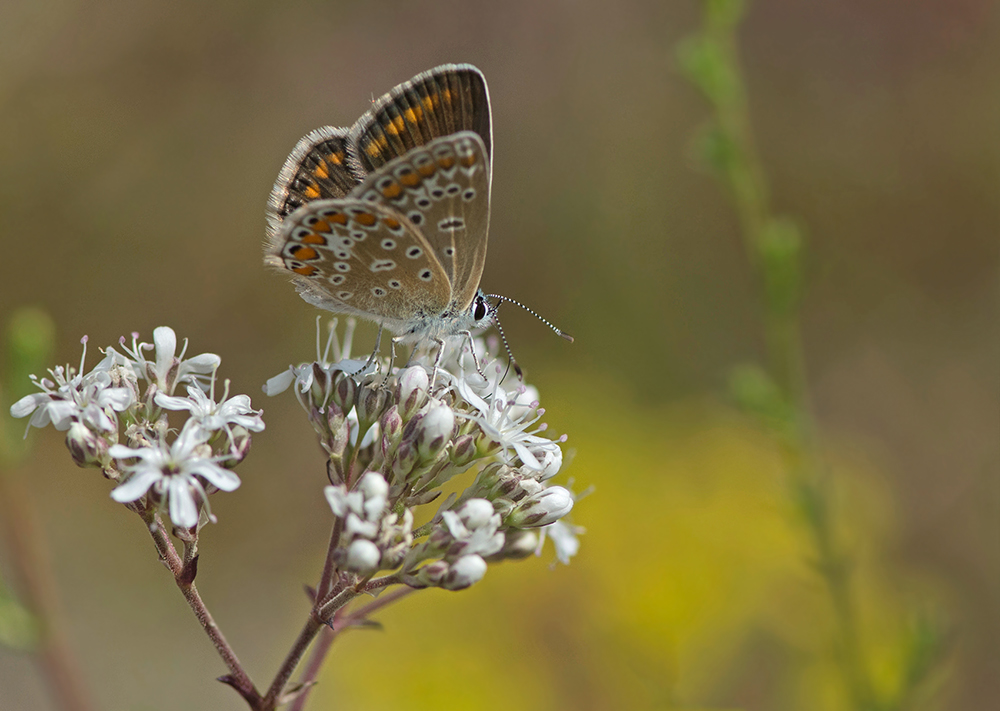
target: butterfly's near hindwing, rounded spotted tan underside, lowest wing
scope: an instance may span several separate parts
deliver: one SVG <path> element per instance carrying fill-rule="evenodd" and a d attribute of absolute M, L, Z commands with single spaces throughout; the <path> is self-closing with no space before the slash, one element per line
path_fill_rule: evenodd
<path fill-rule="evenodd" d="M 391 207 L 353 197 L 314 201 L 286 218 L 281 238 L 268 262 L 294 274 L 299 293 L 321 308 L 400 330 L 451 302 L 431 246 Z"/>

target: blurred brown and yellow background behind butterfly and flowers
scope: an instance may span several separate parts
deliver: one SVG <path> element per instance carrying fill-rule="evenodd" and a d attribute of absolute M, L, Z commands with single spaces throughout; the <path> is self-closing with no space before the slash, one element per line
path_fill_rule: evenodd
<path fill-rule="evenodd" d="M 262 267 L 268 191 L 311 129 L 471 62 L 494 121 L 483 286 L 576 336 L 504 316 L 569 435 L 560 483 L 595 489 L 587 533 L 569 567 L 546 551 L 344 636 L 311 708 L 848 707 L 777 445 L 727 395 L 763 330 L 692 148 L 708 107 L 675 48 L 699 23 L 697 3 L 653 0 L 0 8 L 0 317 L 49 311 L 63 363 L 84 334 L 170 325 L 264 408 L 198 579 L 259 685 L 330 518 L 304 415 L 260 390 L 313 357 L 316 317 Z M 1000 704 L 998 30 L 988 0 L 759 0 L 740 29 L 772 200 L 807 237 L 810 397 L 873 678 L 898 681 L 914 609 L 953 634 L 913 708 Z M 138 519 L 60 433 L 29 440 L 17 475 L 96 706 L 243 708 Z M 16 593 L 3 546 L 0 571 Z M 30 655 L 0 650 L 0 709 L 53 708 Z"/>

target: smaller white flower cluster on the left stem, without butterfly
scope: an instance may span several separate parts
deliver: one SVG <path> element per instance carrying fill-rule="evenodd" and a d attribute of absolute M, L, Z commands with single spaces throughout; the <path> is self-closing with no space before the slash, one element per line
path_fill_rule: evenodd
<path fill-rule="evenodd" d="M 32 376 L 41 392 L 14 403 L 11 414 L 30 415 L 29 427 L 65 431 L 78 465 L 100 468 L 118 482 L 111 492 L 116 501 L 150 517 L 167 511 L 180 529 L 213 520 L 208 495 L 240 485 L 232 469 L 249 451 L 250 432 L 264 429 L 261 413 L 246 395 L 230 398 L 228 382 L 216 402 L 219 357 L 185 358 L 186 343 L 176 354 L 170 328 L 157 328 L 153 343 L 140 343 L 138 334 L 130 346 L 121 339 L 121 352 L 107 348 L 90 372 L 86 342 L 79 369 L 59 366 L 51 378 Z M 186 397 L 175 394 L 182 386 Z M 170 427 L 171 411 L 187 412 L 179 429 Z"/>

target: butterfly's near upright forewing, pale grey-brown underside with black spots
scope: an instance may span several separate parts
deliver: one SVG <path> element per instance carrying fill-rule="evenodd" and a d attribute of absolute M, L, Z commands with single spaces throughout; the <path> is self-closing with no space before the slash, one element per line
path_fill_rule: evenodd
<path fill-rule="evenodd" d="M 472 131 L 436 138 L 369 175 L 352 193 L 406 216 L 433 249 L 468 308 L 479 288 L 490 219 L 490 167 Z"/>

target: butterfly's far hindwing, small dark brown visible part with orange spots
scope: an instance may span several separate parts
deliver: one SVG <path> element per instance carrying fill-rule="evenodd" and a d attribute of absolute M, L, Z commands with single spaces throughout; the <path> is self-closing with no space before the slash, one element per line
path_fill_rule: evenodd
<path fill-rule="evenodd" d="M 324 126 L 302 138 L 285 161 L 267 203 L 269 230 L 313 200 L 345 197 L 361 177 L 347 167 L 350 130 Z"/>

